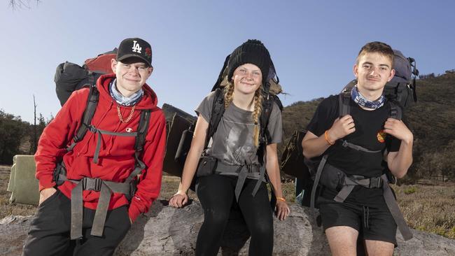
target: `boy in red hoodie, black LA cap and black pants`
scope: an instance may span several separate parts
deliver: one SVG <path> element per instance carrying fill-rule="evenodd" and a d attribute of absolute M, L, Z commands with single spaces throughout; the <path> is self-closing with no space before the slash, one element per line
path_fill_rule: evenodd
<path fill-rule="evenodd" d="M 151 45 L 141 38 L 120 43 L 111 61 L 113 73 L 97 80 L 99 101 L 90 127 L 72 149 L 84 125 L 88 88 L 73 92 L 45 127 L 35 154 L 39 206 L 23 255 L 112 255 L 132 222 L 160 194 L 166 122 L 146 84 L 151 61 Z M 138 151 L 134 144 L 143 112 L 150 118 Z M 57 185 L 53 172 L 60 163 L 66 177 L 57 178 L 63 182 Z M 131 179 L 139 180 L 134 194 L 125 190 Z"/>

